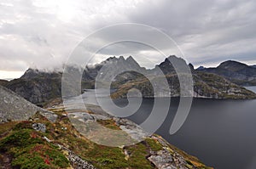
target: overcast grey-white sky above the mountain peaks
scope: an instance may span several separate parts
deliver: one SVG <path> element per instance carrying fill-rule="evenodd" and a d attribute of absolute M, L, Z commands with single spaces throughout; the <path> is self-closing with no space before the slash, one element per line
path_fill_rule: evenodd
<path fill-rule="evenodd" d="M 127 22 L 163 31 L 195 67 L 227 59 L 254 65 L 255 8 L 255 0 L 1 0 L 0 78 L 19 77 L 28 67 L 61 67 L 84 37 Z M 102 35 L 95 45 L 109 36 L 117 35 Z M 141 65 L 152 67 L 163 60 L 152 48 L 134 44 L 104 48 L 95 61 L 133 55 Z"/>

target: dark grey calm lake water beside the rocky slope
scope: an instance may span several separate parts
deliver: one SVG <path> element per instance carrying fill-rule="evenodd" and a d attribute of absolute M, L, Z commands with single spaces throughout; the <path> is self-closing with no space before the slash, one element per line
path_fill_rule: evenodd
<path fill-rule="evenodd" d="M 125 99 L 116 103 L 127 104 Z M 194 99 L 183 127 L 171 136 L 169 128 L 178 103 L 179 99 L 172 99 L 169 114 L 157 130 L 158 134 L 208 166 L 256 168 L 256 99 Z M 153 104 L 154 99 L 143 99 L 141 108 L 129 119 L 140 124 L 150 114 Z"/>

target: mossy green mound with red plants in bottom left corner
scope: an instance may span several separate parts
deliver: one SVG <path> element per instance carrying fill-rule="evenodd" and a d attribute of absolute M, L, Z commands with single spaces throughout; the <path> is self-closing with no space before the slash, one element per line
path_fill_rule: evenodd
<path fill-rule="evenodd" d="M 20 123 L 24 125 L 24 123 Z M 18 125 L 20 127 L 20 125 Z M 55 146 L 46 143 L 42 134 L 32 129 L 20 129 L 1 139 L 0 152 L 12 156 L 15 168 L 65 168 L 67 158 Z"/>

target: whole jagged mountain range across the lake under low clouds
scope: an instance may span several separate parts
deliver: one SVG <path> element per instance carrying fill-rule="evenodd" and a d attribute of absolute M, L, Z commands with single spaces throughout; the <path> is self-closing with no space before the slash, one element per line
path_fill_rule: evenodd
<path fill-rule="evenodd" d="M 87 65 L 84 70 L 73 65 L 68 65 L 71 72 L 82 71 L 82 89 L 94 88 L 96 78 L 101 81 L 113 80 L 112 87 L 116 88 L 113 98 L 125 97 L 127 91 L 132 87 L 141 90 L 143 97 L 153 97 L 152 84 L 148 82 L 144 75 L 155 78 L 166 78 L 171 88 L 170 93 L 159 93 L 156 97 L 179 96 L 179 82 L 177 74 L 172 66 L 171 60 L 186 64 L 186 62 L 171 55 L 160 65 L 155 65 L 154 69 L 147 70 L 131 56 L 125 59 L 110 57 L 100 64 Z M 226 61 L 216 68 L 194 69 L 189 64 L 194 79 L 194 97 L 213 99 L 253 99 L 252 93 L 242 86 L 256 85 L 256 68 L 236 61 Z M 160 74 L 160 71 L 163 74 Z M 100 74 L 99 74 L 100 72 Z M 101 73 L 105 72 L 105 73 Z M 107 73 L 106 73 L 107 72 Z M 28 69 L 25 74 L 10 82 L 0 81 L 0 85 L 8 87 L 15 93 L 31 101 L 34 104 L 43 106 L 51 99 L 61 98 L 61 71 L 42 71 Z M 161 87 L 161 85 L 156 86 Z"/>

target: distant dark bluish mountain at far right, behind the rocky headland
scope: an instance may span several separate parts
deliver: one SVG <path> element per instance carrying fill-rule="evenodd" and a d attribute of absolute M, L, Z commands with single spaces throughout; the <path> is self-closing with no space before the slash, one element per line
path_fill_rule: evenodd
<path fill-rule="evenodd" d="M 203 72 L 224 76 L 230 82 L 241 86 L 256 86 L 256 68 L 237 61 L 228 60 L 216 68 L 200 69 Z"/>

